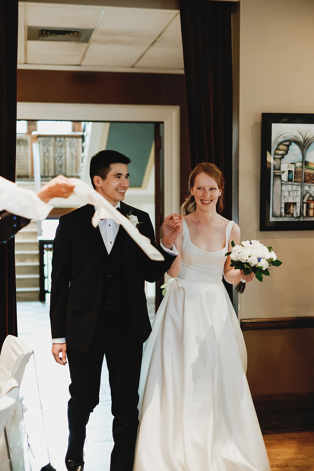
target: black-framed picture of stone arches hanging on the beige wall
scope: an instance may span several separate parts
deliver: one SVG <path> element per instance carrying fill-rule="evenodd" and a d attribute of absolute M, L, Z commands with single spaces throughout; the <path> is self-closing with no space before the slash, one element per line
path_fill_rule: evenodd
<path fill-rule="evenodd" d="M 261 137 L 259 230 L 314 230 L 314 114 L 262 113 Z"/>

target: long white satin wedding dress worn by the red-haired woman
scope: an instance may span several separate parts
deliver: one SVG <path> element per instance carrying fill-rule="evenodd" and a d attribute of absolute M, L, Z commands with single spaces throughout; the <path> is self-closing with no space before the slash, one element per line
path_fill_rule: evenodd
<path fill-rule="evenodd" d="M 182 268 L 143 354 L 135 471 L 270 471 L 222 283 L 232 226 L 225 247 L 206 252 L 183 223 Z"/>

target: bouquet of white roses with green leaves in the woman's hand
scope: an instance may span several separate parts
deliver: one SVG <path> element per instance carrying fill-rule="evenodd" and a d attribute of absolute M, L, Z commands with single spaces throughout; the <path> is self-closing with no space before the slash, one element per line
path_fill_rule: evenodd
<path fill-rule="evenodd" d="M 230 255 L 230 266 L 235 270 L 243 270 L 244 275 L 255 273 L 258 281 L 263 281 L 263 275 L 270 275 L 268 270 L 270 265 L 279 267 L 282 264 L 280 260 L 277 260 L 273 247 L 265 247 L 258 240 L 246 240 L 241 245 L 234 245 L 232 241 L 231 245 L 231 252 L 225 254 Z M 236 290 L 238 293 L 242 293 L 244 288 L 245 280 L 241 278 Z"/>

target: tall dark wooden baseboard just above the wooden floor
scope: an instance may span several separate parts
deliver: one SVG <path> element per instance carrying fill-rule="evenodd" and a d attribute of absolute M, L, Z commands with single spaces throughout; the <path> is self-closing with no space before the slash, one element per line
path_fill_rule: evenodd
<path fill-rule="evenodd" d="M 314 392 L 253 396 L 263 433 L 314 430 Z"/>

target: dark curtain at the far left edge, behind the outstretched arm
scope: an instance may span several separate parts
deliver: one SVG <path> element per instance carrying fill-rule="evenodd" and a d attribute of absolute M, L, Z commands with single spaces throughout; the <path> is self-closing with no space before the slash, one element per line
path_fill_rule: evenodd
<path fill-rule="evenodd" d="M 0 175 L 15 181 L 18 1 L 0 1 Z M 0 348 L 17 335 L 14 239 L 0 244 Z"/>

